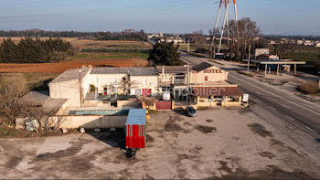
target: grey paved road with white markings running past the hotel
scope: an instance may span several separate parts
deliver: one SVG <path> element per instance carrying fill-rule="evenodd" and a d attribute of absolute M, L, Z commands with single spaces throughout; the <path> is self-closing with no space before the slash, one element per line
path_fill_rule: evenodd
<path fill-rule="evenodd" d="M 182 53 L 181 58 L 190 65 L 206 61 L 205 58 L 196 58 L 187 53 Z M 212 64 L 225 69 L 219 64 Z M 231 83 L 239 84 L 241 90 L 250 94 L 251 101 L 315 138 L 320 138 L 320 105 L 306 101 L 287 91 L 279 90 L 272 85 L 240 75 L 235 71 L 236 69 L 226 70 L 229 71 L 228 80 Z"/>

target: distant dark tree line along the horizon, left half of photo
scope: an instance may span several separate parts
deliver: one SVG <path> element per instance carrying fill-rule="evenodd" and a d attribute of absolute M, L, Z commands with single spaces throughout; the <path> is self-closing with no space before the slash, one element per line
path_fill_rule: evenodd
<path fill-rule="evenodd" d="M 143 30 L 136 31 L 126 29 L 121 32 L 80 32 L 80 31 L 45 31 L 41 29 L 30 29 L 21 31 L 0 31 L 0 37 L 79 37 L 82 39 L 98 40 L 143 40 L 147 35 Z"/>

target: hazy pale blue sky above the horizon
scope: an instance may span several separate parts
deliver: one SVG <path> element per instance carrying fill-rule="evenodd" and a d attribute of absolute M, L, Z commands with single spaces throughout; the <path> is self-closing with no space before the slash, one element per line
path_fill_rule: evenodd
<path fill-rule="evenodd" d="M 320 0 L 238 0 L 237 3 L 239 16 L 250 16 L 257 21 L 263 34 L 320 35 Z M 208 33 L 214 26 L 219 0 L 0 0 L 0 7 L 3 30 L 132 28 L 188 33 L 203 29 Z M 230 7 L 229 18 L 233 18 L 233 5 Z"/>

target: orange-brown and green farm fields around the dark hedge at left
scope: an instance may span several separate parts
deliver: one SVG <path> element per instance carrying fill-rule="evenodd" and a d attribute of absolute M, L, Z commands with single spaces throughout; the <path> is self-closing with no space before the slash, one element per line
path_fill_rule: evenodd
<path fill-rule="evenodd" d="M 11 37 L 16 43 L 22 37 Z M 48 37 L 41 37 L 46 39 Z M 0 37 L 0 43 L 4 37 Z M 77 69 L 82 66 L 93 67 L 144 67 L 147 65 L 148 53 L 142 52 L 81 52 L 82 48 L 105 49 L 149 49 L 152 45 L 143 41 L 102 41 L 63 37 L 69 41 L 77 53 L 73 57 L 59 63 L 41 64 L 0 64 L 0 72 L 27 73 L 61 73 L 67 69 Z"/>

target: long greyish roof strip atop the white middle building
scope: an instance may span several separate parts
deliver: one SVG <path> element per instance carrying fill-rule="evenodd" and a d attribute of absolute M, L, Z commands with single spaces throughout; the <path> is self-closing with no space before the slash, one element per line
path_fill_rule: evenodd
<path fill-rule="evenodd" d="M 131 76 L 157 76 L 155 68 L 94 68 L 91 74 L 130 74 Z"/>

